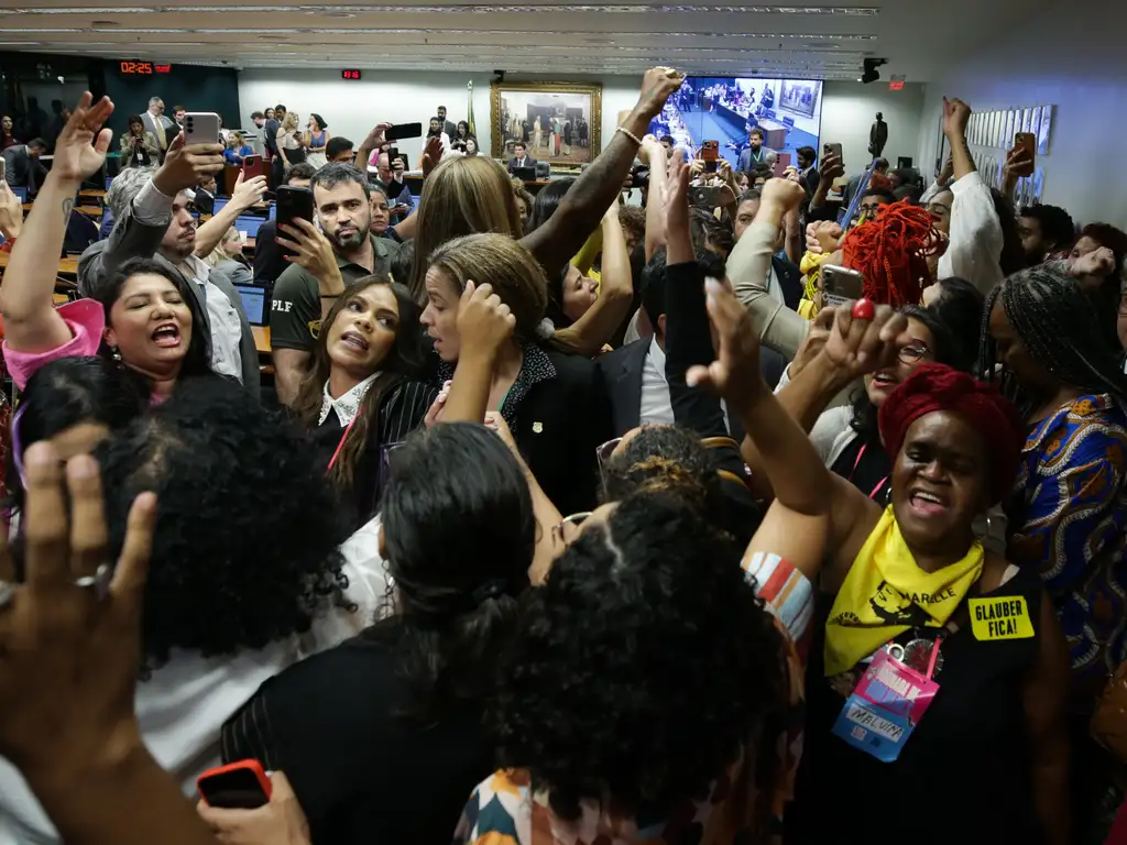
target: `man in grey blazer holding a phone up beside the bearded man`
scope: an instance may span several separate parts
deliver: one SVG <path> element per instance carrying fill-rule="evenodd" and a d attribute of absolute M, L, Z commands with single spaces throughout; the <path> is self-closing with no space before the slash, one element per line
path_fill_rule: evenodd
<path fill-rule="evenodd" d="M 184 145 L 177 137 L 160 169 L 128 168 L 109 185 L 106 203 L 114 214 L 109 239 L 90 246 L 79 259 L 78 283 L 94 296 L 134 258 L 150 258 L 184 276 L 207 320 L 211 366 L 238 379 L 259 395 L 258 352 L 242 299 L 222 273 L 208 267 L 195 250 L 195 220 L 185 192 L 223 169 L 221 144 Z"/>

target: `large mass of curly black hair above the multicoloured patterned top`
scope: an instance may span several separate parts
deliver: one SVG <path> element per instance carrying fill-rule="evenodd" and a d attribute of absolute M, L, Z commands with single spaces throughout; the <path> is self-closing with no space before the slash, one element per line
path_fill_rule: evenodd
<path fill-rule="evenodd" d="M 529 590 L 490 724 L 552 810 L 636 812 L 707 792 L 784 706 L 783 643 L 739 549 L 678 497 L 584 527 Z"/>

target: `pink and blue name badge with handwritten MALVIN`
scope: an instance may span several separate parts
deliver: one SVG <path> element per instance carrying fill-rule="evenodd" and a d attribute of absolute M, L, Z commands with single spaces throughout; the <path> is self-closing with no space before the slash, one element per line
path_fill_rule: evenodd
<path fill-rule="evenodd" d="M 932 669 L 938 644 L 933 650 Z M 891 763 L 900 756 L 938 692 L 939 684 L 930 675 L 881 649 L 845 700 L 832 732 L 882 763 Z"/>

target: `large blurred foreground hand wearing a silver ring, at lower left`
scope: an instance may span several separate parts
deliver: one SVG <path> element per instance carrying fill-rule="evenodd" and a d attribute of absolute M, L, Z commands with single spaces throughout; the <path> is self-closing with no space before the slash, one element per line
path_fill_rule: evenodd
<path fill-rule="evenodd" d="M 92 134 L 89 117 L 82 123 Z M 57 145 L 55 155 L 52 178 Z M 145 748 L 133 709 L 156 496 L 134 501 L 114 560 L 94 459 L 72 457 L 64 471 L 55 450 L 37 443 L 25 461 L 27 578 L 11 587 L 0 626 L 0 754 L 27 779 L 60 840 L 214 845 Z M 95 575 L 99 563 L 110 578 Z M 79 586 L 81 578 L 97 585 Z"/>

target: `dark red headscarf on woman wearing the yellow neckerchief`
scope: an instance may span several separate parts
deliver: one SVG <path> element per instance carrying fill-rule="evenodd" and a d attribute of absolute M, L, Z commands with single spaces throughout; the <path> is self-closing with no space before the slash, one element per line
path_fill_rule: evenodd
<path fill-rule="evenodd" d="M 1013 402 L 995 385 L 976 381 L 959 370 L 946 364 L 923 364 L 880 406 L 877 417 L 880 437 L 894 460 L 908 426 L 932 411 L 955 411 L 970 421 L 986 442 L 992 462 L 991 504 L 1009 496 L 1026 444 L 1026 424 Z"/>

